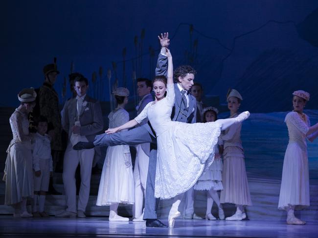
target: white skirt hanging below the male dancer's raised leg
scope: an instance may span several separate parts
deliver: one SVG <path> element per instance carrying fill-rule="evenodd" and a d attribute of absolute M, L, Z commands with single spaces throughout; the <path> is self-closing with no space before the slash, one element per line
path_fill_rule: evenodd
<path fill-rule="evenodd" d="M 133 167 L 129 155 L 130 166 L 125 165 L 127 145 L 110 146 L 100 178 L 97 206 L 111 205 L 113 203 L 135 203 L 135 186 Z M 127 154 L 126 154 L 127 155 Z"/>

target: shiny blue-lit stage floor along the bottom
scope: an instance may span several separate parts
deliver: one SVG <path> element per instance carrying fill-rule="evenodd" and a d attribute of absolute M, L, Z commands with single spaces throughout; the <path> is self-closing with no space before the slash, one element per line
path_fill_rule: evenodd
<path fill-rule="evenodd" d="M 162 219 L 167 224 L 167 219 Z M 281 221 L 225 221 L 177 219 L 175 228 L 146 228 L 145 222 L 109 222 L 104 217 L 89 218 L 13 218 L 0 216 L 2 237 L 317 237 L 318 222 L 304 226 Z"/>

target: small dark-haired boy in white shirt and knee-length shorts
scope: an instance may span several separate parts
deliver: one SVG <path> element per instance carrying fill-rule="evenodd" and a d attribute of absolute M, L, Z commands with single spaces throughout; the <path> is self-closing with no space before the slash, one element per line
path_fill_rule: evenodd
<path fill-rule="evenodd" d="M 50 176 L 53 171 L 51 156 L 51 141 L 47 134 L 47 119 L 40 116 L 37 120 L 37 133 L 32 142 L 34 200 L 32 204 L 33 217 L 49 217 L 44 211 L 45 193 L 48 191 Z M 39 209 L 37 208 L 39 204 Z"/>

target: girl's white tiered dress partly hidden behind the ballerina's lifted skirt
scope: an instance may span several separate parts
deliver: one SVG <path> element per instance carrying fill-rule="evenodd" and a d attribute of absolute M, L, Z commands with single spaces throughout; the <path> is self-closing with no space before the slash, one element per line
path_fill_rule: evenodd
<path fill-rule="evenodd" d="M 219 140 L 218 144 L 222 144 Z M 219 153 L 218 145 L 215 146 L 215 154 Z M 194 185 L 194 190 L 210 190 L 213 188 L 215 191 L 223 190 L 222 184 L 222 159 L 214 159 L 209 169 L 201 175 L 197 183 Z"/>

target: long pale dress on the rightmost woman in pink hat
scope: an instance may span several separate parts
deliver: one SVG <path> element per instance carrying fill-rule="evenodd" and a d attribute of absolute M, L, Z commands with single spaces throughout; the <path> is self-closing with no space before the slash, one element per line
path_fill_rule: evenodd
<path fill-rule="evenodd" d="M 288 127 L 289 142 L 284 157 L 282 182 L 280 186 L 278 208 L 295 206 L 302 209 L 309 206 L 309 170 L 306 133 L 310 121 L 305 115 L 303 121 L 296 112 L 290 112 L 285 118 Z"/>

